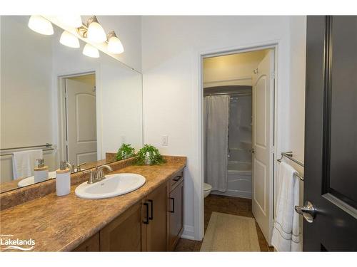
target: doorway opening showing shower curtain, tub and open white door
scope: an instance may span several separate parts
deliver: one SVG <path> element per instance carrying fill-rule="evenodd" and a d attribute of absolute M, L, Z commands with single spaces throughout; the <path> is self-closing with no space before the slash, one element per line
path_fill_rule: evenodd
<path fill-rule="evenodd" d="M 259 243 L 263 236 L 268 250 L 273 226 L 275 51 L 267 47 L 203 56 L 201 66 L 203 229 L 207 234 L 217 210 L 233 215 L 246 209 L 256 223 Z"/>

